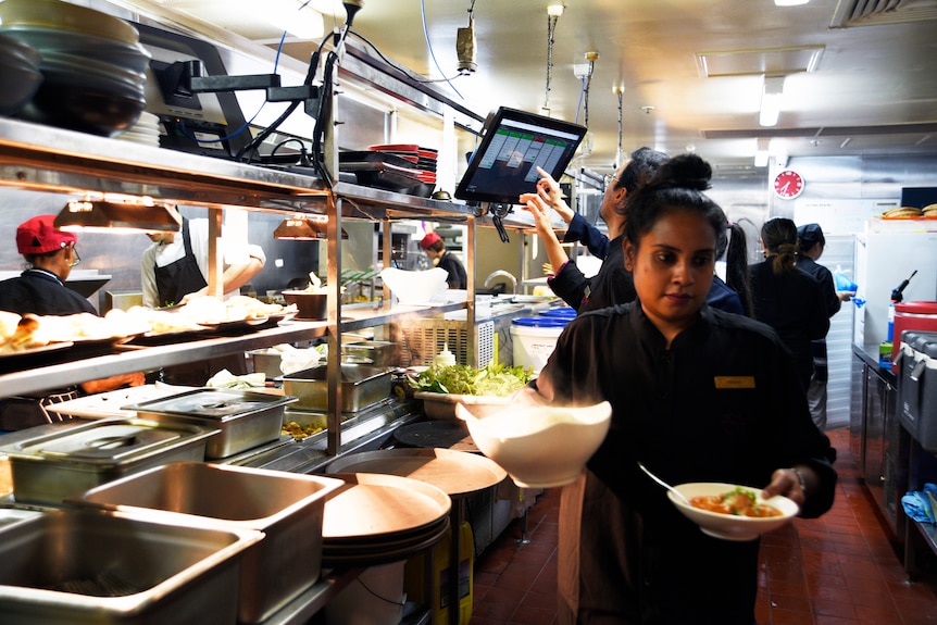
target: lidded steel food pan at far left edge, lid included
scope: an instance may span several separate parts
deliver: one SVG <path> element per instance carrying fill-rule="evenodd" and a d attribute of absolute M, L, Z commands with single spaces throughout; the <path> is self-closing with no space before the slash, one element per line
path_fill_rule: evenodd
<path fill-rule="evenodd" d="M 201 462 L 212 427 L 141 418 L 102 418 L 74 427 L 43 425 L 0 448 L 10 459 L 17 502 L 59 504 L 65 497 L 175 461 Z"/>

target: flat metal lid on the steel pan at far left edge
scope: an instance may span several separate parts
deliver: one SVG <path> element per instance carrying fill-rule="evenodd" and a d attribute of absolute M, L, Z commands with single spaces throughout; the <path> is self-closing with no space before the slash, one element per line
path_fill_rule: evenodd
<path fill-rule="evenodd" d="M 0 449 L 13 459 L 95 465 L 130 464 L 217 434 L 214 428 L 141 418 L 102 418 L 55 428 Z"/>

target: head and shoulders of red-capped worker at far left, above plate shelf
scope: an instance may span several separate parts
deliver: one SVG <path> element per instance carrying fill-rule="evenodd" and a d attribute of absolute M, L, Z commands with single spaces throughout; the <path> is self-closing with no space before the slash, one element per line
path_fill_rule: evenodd
<path fill-rule="evenodd" d="M 38 215 L 16 228 L 16 250 L 28 268 L 0 283 L 0 310 L 20 315 L 97 314 L 86 298 L 65 286 L 72 267 L 82 262 L 75 233 L 52 225 L 55 215 Z"/>

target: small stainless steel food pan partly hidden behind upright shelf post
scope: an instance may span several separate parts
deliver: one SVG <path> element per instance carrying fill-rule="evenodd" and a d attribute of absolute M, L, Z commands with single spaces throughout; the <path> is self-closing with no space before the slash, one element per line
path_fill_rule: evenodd
<path fill-rule="evenodd" d="M 328 410 L 328 367 L 326 365 L 283 376 L 283 390 L 295 396 L 293 408 Z M 341 412 L 359 412 L 390 395 L 390 372 L 385 368 L 341 365 Z"/>

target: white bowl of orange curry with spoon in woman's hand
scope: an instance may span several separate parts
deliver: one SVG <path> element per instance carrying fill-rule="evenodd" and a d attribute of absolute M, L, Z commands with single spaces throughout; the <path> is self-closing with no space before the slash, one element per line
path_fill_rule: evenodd
<path fill-rule="evenodd" d="M 675 486 L 689 503 L 673 492 L 667 497 L 684 516 L 713 538 L 754 540 L 797 516 L 800 508 L 777 495 L 762 499 L 761 489 L 719 482 L 697 482 Z"/>

